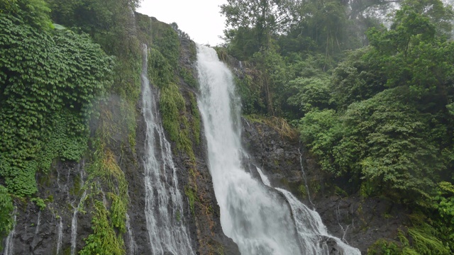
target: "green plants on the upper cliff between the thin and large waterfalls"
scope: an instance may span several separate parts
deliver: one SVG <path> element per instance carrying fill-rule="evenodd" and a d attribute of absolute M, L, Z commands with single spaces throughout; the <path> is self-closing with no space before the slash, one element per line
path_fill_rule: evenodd
<path fill-rule="evenodd" d="M 150 24 L 151 28 L 145 26 L 142 30 L 153 31 L 153 46 L 148 55 L 148 77 L 153 85 L 160 88 L 159 107 L 162 125 L 170 140 L 176 143 L 177 149 L 189 156 L 192 166 L 195 164 L 192 141 L 194 140 L 196 144 L 200 142 L 200 115 L 194 95 L 191 93 L 189 93 L 191 111 L 187 110 L 186 99 L 177 86 L 177 73 L 179 72 L 182 79 L 193 88 L 196 86 L 196 80 L 189 69 L 179 68 L 180 45 L 175 30 L 159 21 L 151 21 Z M 189 125 L 189 121 L 192 125 Z"/>

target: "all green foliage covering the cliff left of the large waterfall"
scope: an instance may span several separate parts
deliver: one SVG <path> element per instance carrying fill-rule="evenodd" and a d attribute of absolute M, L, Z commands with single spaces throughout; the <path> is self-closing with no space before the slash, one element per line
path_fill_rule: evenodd
<path fill-rule="evenodd" d="M 39 197 L 39 176 L 58 161 L 84 159 L 87 180 L 73 189 L 87 194 L 77 210 L 89 212 L 93 232 L 79 254 L 126 253 L 128 181 L 118 159 L 135 154 L 144 50 L 165 129 L 196 171 L 200 116 L 194 95 L 187 108 L 177 86 L 178 75 L 196 82 L 179 67 L 179 37 L 187 35 L 135 13 L 138 4 L 0 0 L 0 239 L 14 224 L 13 199 L 44 210 L 52 199 Z"/>

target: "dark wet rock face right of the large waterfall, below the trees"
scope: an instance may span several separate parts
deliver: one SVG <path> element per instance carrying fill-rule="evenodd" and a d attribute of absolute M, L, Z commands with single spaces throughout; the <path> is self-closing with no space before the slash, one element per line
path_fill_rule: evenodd
<path fill-rule="evenodd" d="M 251 156 L 245 164 L 260 167 L 272 186 L 286 188 L 316 209 L 330 234 L 357 247 L 362 254 L 367 254 L 368 247 L 378 239 L 397 239 L 399 227 L 407 222 L 408 212 L 402 205 L 383 198 L 348 196 L 344 191 L 351 193 L 348 181 L 323 174 L 298 140 L 282 137 L 269 125 L 243 118 L 242 138 Z M 260 178 L 256 171 L 251 174 Z M 334 242 L 330 251 L 336 254 Z"/>

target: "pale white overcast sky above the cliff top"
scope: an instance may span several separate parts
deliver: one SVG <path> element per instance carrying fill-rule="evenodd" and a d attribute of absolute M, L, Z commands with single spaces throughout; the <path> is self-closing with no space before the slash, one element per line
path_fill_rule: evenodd
<path fill-rule="evenodd" d="M 226 0 L 142 0 L 139 13 L 157 20 L 176 22 L 195 42 L 216 46 L 222 42 L 224 17 L 219 13 Z"/>

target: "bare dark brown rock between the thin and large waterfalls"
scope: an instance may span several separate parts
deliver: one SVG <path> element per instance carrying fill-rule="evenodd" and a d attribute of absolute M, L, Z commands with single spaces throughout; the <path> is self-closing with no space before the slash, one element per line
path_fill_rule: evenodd
<path fill-rule="evenodd" d="M 180 66 L 190 70 L 196 77 L 195 45 L 188 39 L 181 39 Z M 194 86 L 179 79 L 180 91 L 186 101 L 186 108 L 191 108 L 189 94 L 194 94 Z M 192 116 L 187 116 L 188 119 Z M 204 125 L 201 124 L 200 143 L 193 141 L 193 150 L 196 157 L 195 168 L 192 168 L 186 154 L 174 153 L 175 166 L 178 169 L 178 183 L 184 197 L 184 219 L 189 222 L 189 232 L 194 242 L 196 254 L 240 254 L 238 246 L 229 237 L 223 234 L 220 221 L 220 209 L 214 194 L 213 181 L 208 168 L 208 155 L 204 135 Z M 172 144 L 175 147 L 175 144 Z M 192 173 L 192 174 L 190 174 Z M 194 210 L 190 208 L 189 198 L 185 195 L 185 188 L 194 190 Z"/>

